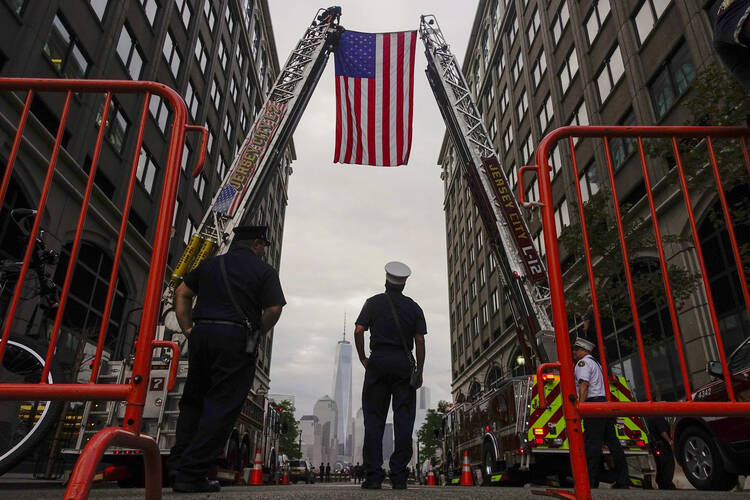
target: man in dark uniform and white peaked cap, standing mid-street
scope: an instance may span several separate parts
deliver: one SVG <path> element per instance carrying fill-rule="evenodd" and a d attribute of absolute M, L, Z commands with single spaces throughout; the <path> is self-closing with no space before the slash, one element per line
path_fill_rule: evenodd
<path fill-rule="evenodd" d="M 412 456 L 416 388 L 409 384 L 411 365 L 388 297 L 393 302 L 408 349 L 416 345 L 417 387 L 422 385 L 427 325 L 422 308 L 402 293 L 406 278 L 411 274 L 409 267 L 401 262 L 389 262 L 385 271 L 385 293 L 367 299 L 354 330 L 357 353 L 365 367 L 362 386 L 362 412 L 365 418 L 362 468 L 365 480 L 362 488 L 378 489 L 383 482 L 383 431 L 388 405 L 393 398 L 394 447 L 389 464 L 390 477 L 394 489 L 406 489 L 406 466 Z M 364 332 L 368 329 L 369 358 L 365 355 L 364 341 Z"/>

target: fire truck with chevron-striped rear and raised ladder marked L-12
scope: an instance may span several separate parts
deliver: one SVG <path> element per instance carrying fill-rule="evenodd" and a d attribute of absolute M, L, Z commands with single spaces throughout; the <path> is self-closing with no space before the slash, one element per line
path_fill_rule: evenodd
<path fill-rule="evenodd" d="M 570 462 L 559 376 L 544 375 L 543 404 L 532 375 L 539 363 L 557 360 L 546 310 L 546 269 L 531 243 L 470 87 L 434 16 L 422 16 L 419 31 L 425 45 L 427 77 L 490 235 L 524 366 L 529 370 L 528 375 L 500 381 L 473 401 L 456 404 L 444 415 L 444 472 L 449 483 L 457 484 L 467 453 L 472 474 L 484 485 L 523 484 L 550 474 L 564 482 Z M 610 378 L 609 385 L 613 397 L 633 400 L 623 377 Z M 626 454 L 637 461 L 638 477 L 631 482 L 649 486 L 655 468 L 643 422 L 618 418 L 616 427 Z"/>

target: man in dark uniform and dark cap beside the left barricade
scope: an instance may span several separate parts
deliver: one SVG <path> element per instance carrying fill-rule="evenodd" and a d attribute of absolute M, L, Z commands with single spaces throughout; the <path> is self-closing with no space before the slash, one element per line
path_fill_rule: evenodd
<path fill-rule="evenodd" d="M 229 438 L 255 377 L 257 349 L 246 352 L 247 330 L 227 294 L 219 259 L 225 259 L 242 312 L 264 334 L 286 304 L 278 273 L 262 260 L 270 245 L 266 230 L 235 228 L 229 252 L 201 263 L 175 291 L 177 321 L 188 337 L 189 366 L 168 461 L 174 491 L 219 491 L 219 483 L 206 474 Z"/>

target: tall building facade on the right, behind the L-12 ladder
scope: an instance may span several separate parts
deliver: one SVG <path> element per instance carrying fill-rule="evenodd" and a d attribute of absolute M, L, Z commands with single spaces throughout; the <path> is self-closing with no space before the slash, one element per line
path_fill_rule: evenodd
<path fill-rule="evenodd" d="M 513 191 L 517 192 L 518 169 L 535 163 L 537 145 L 558 127 L 685 123 L 690 114 L 683 104 L 690 83 L 701 69 L 716 62 L 712 25 L 718 4 L 690 0 L 480 1 L 462 67 Z M 561 228 L 577 217 L 577 204 L 568 201 L 577 199 L 576 184 L 586 201 L 607 175 L 603 148 L 593 147 L 592 142 L 576 144 L 578 179 L 573 178 L 569 151 L 560 147 L 552 151 L 558 226 L 553 236 L 559 237 Z M 636 150 L 632 142 L 611 141 L 620 203 L 648 219 Z M 654 161 L 659 164 L 660 160 Z M 438 162 L 445 187 L 452 393 L 455 401 L 462 401 L 502 379 L 523 374 L 524 360 L 481 219 L 447 135 Z M 666 172 L 670 167 L 664 163 L 660 168 Z M 538 201 L 538 185 L 532 177 L 525 179 L 526 199 Z M 679 207 L 666 210 L 664 217 L 676 227 L 687 225 Z M 699 223 L 705 220 L 704 212 Z M 544 255 L 543 242 L 548 235 L 543 234 L 539 217 L 531 218 L 530 231 Z M 729 262 L 726 271 L 732 259 L 731 255 L 725 258 L 726 249 L 721 251 L 722 259 Z M 694 259 L 685 257 L 689 252 L 688 248 L 674 259 L 694 270 Z M 561 259 L 565 271 L 572 256 L 563 253 Z M 719 269 L 716 276 L 724 271 Z M 717 283 L 712 282 L 712 287 Z M 722 312 L 723 324 L 734 339 L 728 348 L 737 345 L 742 325 L 746 328 L 748 324 L 740 297 L 733 290 Z M 692 300 L 701 303 L 700 293 Z M 649 317 L 663 317 L 664 312 L 650 311 Z M 705 317 L 685 323 L 690 323 L 683 336 L 690 374 L 693 380 L 702 380 L 705 359 L 716 359 L 715 346 L 705 341 L 712 335 L 711 328 Z M 671 356 L 673 347 L 669 347 L 674 338 L 671 332 L 665 333 L 669 328 L 663 324 L 656 329 L 665 337 L 656 349 L 663 351 L 668 368 L 653 376 L 662 377 L 664 397 L 678 397 L 679 365 Z M 632 335 L 632 324 L 618 331 Z M 608 356 L 611 352 L 608 350 Z M 632 356 L 621 356 L 617 364 L 619 373 L 638 378 Z M 668 389 L 670 385 L 672 389 Z"/>

